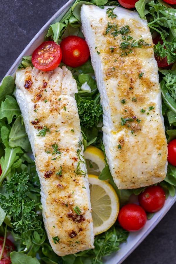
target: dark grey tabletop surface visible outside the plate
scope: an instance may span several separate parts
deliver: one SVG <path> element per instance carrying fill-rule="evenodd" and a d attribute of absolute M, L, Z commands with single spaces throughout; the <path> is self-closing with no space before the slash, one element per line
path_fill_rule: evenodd
<path fill-rule="evenodd" d="M 66 2 L 66 0 L 0 0 L 0 80 L 34 35 Z M 176 263 L 175 219 L 176 204 L 123 264 Z M 126 246 L 128 247 L 128 244 Z"/>

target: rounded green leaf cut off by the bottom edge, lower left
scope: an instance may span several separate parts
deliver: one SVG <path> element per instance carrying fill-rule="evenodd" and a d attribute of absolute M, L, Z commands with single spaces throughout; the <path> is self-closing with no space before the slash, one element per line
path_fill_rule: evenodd
<path fill-rule="evenodd" d="M 10 259 L 12 264 L 40 264 L 37 258 L 32 258 L 21 252 L 11 252 Z"/>

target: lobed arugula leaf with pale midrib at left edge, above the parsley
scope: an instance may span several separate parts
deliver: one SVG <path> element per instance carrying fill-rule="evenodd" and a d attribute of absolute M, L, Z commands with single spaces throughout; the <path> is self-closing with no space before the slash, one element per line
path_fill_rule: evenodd
<path fill-rule="evenodd" d="M 9 129 L 6 126 L 2 126 L 1 136 L 2 136 L 2 142 L 5 146 L 5 155 L 0 159 L 0 164 L 2 168 L 2 174 L 0 176 L 0 186 L 4 178 L 11 171 L 11 167 L 14 165 L 17 165 L 17 167 L 20 166 L 21 159 L 19 159 L 19 156 L 17 154 L 23 153 L 23 150 L 20 147 L 16 147 L 16 148 L 9 147 Z"/>

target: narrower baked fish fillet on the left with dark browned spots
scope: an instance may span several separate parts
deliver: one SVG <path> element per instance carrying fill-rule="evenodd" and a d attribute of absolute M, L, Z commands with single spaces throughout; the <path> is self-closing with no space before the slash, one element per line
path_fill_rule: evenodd
<path fill-rule="evenodd" d="M 93 248 L 76 81 L 63 66 L 51 72 L 31 67 L 18 70 L 15 82 L 15 96 L 40 179 L 43 221 L 50 244 L 60 256 Z"/>

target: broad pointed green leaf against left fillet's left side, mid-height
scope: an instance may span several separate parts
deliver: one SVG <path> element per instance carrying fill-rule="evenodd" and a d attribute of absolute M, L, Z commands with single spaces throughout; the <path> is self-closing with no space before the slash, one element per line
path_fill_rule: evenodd
<path fill-rule="evenodd" d="M 17 117 L 11 128 L 9 134 L 9 146 L 11 148 L 21 147 L 25 151 L 29 151 L 31 149 L 21 116 Z"/>

